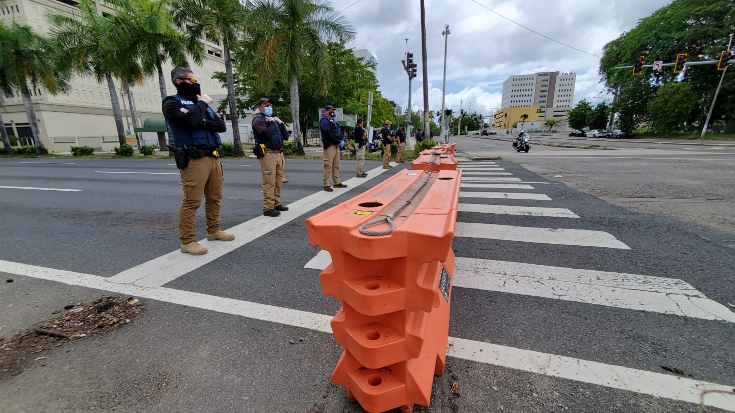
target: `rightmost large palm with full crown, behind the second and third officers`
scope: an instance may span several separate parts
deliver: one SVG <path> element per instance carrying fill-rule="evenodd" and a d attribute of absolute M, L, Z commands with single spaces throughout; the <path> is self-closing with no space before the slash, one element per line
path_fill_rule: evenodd
<path fill-rule="evenodd" d="M 325 0 L 258 0 L 253 24 L 248 30 L 254 70 L 259 88 L 266 90 L 274 79 L 290 84 L 293 134 L 298 151 L 303 153 L 298 113 L 298 75 L 304 65 L 313 65 L 319 74 L 318 87 L 329 90 L 329 62 L 323 37 L 348 42 L 355 30 Z"/>

